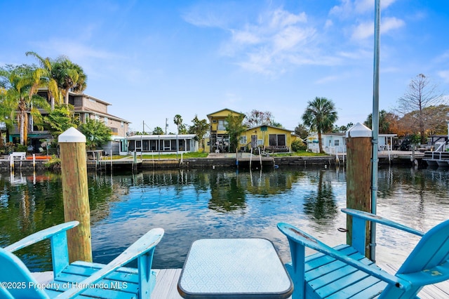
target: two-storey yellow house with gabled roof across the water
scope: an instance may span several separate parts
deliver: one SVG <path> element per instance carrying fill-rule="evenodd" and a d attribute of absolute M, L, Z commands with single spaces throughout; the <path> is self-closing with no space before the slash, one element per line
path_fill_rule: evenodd
<path fill-rule="evenodd" d="M 229 114 L 233 117 L 245 115 L 227 108 L 207 115 L 210 124 L 210 152 L 229 152 L 229 134 L 225 128 L 226 118 Z"/>

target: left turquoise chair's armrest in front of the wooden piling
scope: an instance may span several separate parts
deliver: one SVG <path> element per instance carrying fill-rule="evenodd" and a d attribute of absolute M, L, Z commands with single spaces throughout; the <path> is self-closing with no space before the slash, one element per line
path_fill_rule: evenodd
<path fill-rule="evenodd" d="M 78 221 L 70 221 L 61 223 L 60 225 L 55 225 L 53 227 L 48 227 L 45 230 L 40 230 L 39 232 L 35 232 L 34 234 L 30 234 L 29 236 L 20 239 L 19 241 L 6 246 L 4 249 L 9 252 L 18 251 L 19 249 L 25 248 L 29 245 L 35 244 L 37 242 L 43 241 L 45 239 L 50 239 L 59 234 L 66 233 L 67 230 L 70 230 L 73 227 L 79 225 Z"/>

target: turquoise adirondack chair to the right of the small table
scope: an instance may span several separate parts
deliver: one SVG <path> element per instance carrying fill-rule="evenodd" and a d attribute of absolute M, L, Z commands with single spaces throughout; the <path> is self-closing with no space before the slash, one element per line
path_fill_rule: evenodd
<path fill-rule="evenodd" d="M 449 279 L 449 220 L 423 233 L 378 215 L 342 209 L 352 216 L 352 246 L 334 248 L 292 225 L 279 223 L 287 236 L 292 263 L 286 264 L 298 298 L 416 298 L 423 286 Z M 365 257 L 366 221 L 388 225 L 420 237 L 395 275 Z M 305 256 L 305 246 L 319 253 Z"/>

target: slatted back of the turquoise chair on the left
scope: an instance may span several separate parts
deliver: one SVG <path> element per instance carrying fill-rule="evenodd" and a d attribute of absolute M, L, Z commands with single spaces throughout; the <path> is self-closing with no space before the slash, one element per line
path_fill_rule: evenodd
<path fill-rule="evenodd" d="M 0 271 L 0 298 L 48 298 L 22 260 L 3 248 L 0 248 L 0 265 L 7 269 Z"/>

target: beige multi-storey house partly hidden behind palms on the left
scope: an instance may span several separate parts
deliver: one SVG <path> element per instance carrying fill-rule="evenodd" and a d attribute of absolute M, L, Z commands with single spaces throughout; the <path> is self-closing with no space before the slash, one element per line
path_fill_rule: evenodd
<path fill-rule="evenodd" d="M 48 100 L 48 93 L 46 90 L 38 91 L 38 95 Z M 48 100 L 49 101 L 49 100 Z M 128 152 L 128 142 L 126 142 L 126 133 L 128 132 L 128 126 L 130 124 L 126 119 L 121 119 L 107 112 L 107 107 L 111 105 L 109 102 L 94 98 L 91 95 L 85 93 L 72 93 L 69 92 L 69 104 L 74 107 L 74 115 L 78 117 L 81 124 L 86 124 L 88 119 L 95 119 L 102 121 L 112 131 L 112 140 L 103 146 L 103 150 L 111 152 L 113 154 L 119 154 L 119 152 Z M 45 115 L 45 110 L 41 109 L 41 114 Z M 38 152 L 41 147 L 41 140 L 51 139 L 48 131 L 41 131 L 33 124 L 32 117 L 29 117 L 28 124 L 28 143 L 32 145 L 35 152 Z M 15 127 L 9 132 L 9 141 L 15 142 L 20 139 L 20 132 Z"/>

